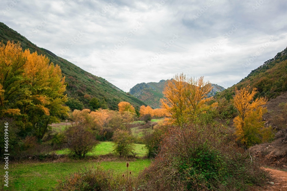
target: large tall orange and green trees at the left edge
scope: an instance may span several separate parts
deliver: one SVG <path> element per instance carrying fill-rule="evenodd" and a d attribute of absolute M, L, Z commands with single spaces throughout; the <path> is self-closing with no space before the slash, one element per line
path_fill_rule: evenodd
<path fill-rule="evenodd" d="M 17 115 L 23 136 L 32 132 L 42 139 L 49 124 L 67 115 L 64 82 L 60 67 L 45 56 L 0 42 L 1 116 Z"/>

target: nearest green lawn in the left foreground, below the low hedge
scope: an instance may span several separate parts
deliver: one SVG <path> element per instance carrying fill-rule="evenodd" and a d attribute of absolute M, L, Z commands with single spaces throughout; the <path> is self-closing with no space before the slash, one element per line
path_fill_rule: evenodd
<path fill-rule="evenodd" d="M 137 159 L 130 162 L 129 171 L 137 174 L 150 165 L 149 159 Z M 57 180 L 64 180 L 69 174 L 84 167 L 96 168 L 98 165 L 104 169 L 111 169 L 116 174 L 126 172 L 126 162 L 65 162 L 65 163 L 35 163 L 35 164 L 9 164 L 9 190 L 51 190 Z M 11 169 L 11 170 L 10 170 Z"/>

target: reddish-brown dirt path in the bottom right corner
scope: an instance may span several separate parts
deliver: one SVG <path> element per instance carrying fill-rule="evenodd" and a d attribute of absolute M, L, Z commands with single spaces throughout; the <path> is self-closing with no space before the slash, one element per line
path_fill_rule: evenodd
<path fill-rule="evenodd" d="M 270 173 L 273 178 L 272 182 L 274 182 L 274 184 L 267 183 L 264 186 L 252 189 L 252 191 L 287 191 L 287 172 L 271 168 L 263 169 Z"/>

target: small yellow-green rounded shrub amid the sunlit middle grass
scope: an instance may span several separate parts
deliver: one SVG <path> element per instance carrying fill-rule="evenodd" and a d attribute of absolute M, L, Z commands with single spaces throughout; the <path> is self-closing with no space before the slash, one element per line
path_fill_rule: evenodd
<path fill-rule="evenodd" d="M 133 136 L 124 130 L 117 129 L 113 135 L 113 145 L 114 152 L 120 156 L 127 156 L 132 154 L 134 150 Z"/>

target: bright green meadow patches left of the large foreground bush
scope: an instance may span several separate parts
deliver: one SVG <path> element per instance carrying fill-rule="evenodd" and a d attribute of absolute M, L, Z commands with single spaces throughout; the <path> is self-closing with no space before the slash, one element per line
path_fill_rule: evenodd
<path fill-rule="evenodd" d="M 52 126 L 52 132 L 60 132 L 65 129 L 66 125 L 55 124 Z M 113 142 L 100 142 L 92 152 L 87 153 L 88 156 L 106 155 L 113 152 Z M 135 153 L 144 156 L 147 153 L 143 144 L 134 144 Z M 56 154 L 68 154 L 69 149 L 61 149 L 53 151 Z M 129 162 L 129 171 L 137 176 L 139 171 L 150 166 L 150 159 L 136 159 Z M 22 162 L 11 164 L 11 175 L 9 182 L 10 190 L 53 190 L 57 185 L 57 180 L 65 180 L 67 176 L 83 170 L 85 168 L 97 168 L 100 166 L 105 170 L 112 170 L 115 174 L 121 175 L 126 172 L 125 161 L 104 161 L 104 162 Z"/>

